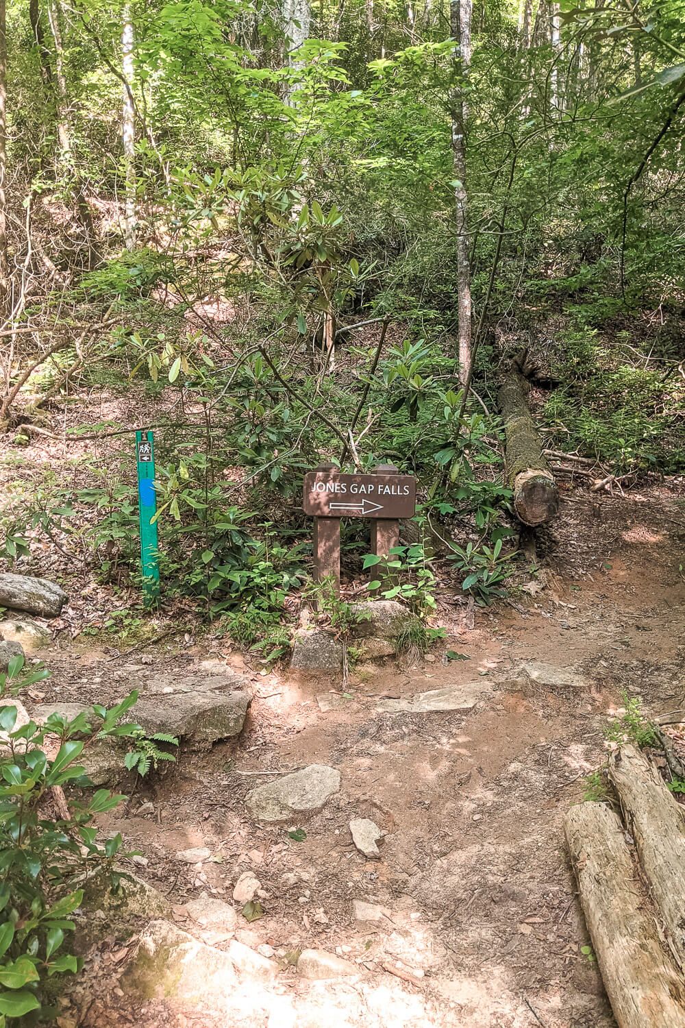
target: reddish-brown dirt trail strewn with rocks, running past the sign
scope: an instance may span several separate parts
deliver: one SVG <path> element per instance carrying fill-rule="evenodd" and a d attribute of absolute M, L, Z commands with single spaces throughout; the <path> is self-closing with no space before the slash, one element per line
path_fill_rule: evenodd
<path fill-rule="evenodd" d="M 313 986 L 288 968 L 274 993 L 280 1013 L 258 1012 L 256 999 L 254 1020 L 217 1020 L 210 1007 L 112 994 L 118 970 L 106 942 L 72 996 L 78 1023 L 613 1025 L 597 965 L 580 953 L 587 938 L 561 821 L 603 759 L 602 727 L 621 689 L 642 695 L 649 712 L 683 705 L 684 541 L 685 503 L 673 490 L 580 495 L 544 540 L 544 589 L 479 613 L 473 630 L 449 640 L 467 660 L 444 664 L 437 655 L 411 670 L 365 670 L 342 699 L 327 682 L 258 677 L 237 749 L 182 757 L 105 827 L 143 852 L 147 867 L 137 870 L 170 895 L 182 926 L 185 900 L 210 889 L 231 902 L 239 873 L 252 869 L 266 916 L 245 923 L 242 942 L 276 955 L 338 952 L 359 960 L 366 979 Z M 206 670 L 227 663 L 220 654 L 194 659 Z M 512 671 L 522 660 L 574 668 L 591 685 L 522 688 Z M 117 680 L 98 655 L 81 658 L 88 675 L 75 671 L 69 653 L 49 663 L 54 695 L 88 701 L 94 691 L 105 702 L 108 684 L 120 694 L 151 673 L 135 658 Z M 376 710 L 380 696 L 474 678 L 492 693 L 467 713 Z M 286 830 L 257 827 L 243 804 L 269 780 L 257 772 L 312 763 L 341 771 L 340 795 Z M 154 811 L 137 814 L 147 799 Z M 370 817 L 386 833 L 379 860 L 354 848 L 351 817 Z M 304 841 L 288 835 L 295 828 L 305 830 Z M 217 861 L 180 864 L 176 852 L 192 846 L 210 847 Z M 385 912 L 378 922 L 355 921 L 353 900 Z M 397 961 L 416 984 L 384 969 L 396 970 Z"/>

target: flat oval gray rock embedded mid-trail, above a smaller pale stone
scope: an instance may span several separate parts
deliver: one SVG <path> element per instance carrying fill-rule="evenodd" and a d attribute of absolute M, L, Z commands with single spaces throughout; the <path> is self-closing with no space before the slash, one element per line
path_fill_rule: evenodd
<path fill-rule="evenodd" d="M 320 810 L 339 791 L 340 771 L 325 764 L 311 764 L 253 788 L 245 803 L 257 821 L 283 821 L 294 814 Z"/>

